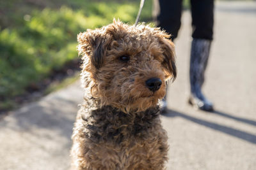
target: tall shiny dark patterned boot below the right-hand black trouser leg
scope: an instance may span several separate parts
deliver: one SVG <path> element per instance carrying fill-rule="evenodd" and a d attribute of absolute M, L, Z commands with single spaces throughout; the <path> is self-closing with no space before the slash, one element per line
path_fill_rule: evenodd
<path fill-rule="evenodd" d="M 213 111 L 211 101 L 202 94 L 202 85 L 204 83 L 204 73 L 207 66 L 211 40 L 193 39 L 191 45 L 190 57 L 190 90 L 189 104 L 196 106 L 200 110 Z"/>

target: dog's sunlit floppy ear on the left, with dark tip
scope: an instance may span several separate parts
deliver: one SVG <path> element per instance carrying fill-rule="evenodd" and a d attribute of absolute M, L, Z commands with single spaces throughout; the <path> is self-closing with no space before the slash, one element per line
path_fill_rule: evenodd
<path fill-rule="evenodd" d="M 106 55 L 106 37 L 102 36 L 99 30 L 88 30 L 81 32 L 77 35 L 77 50 L 79 55 L 86 55 L 89 57 L 89 61 L 96 68 L 99 69 L 103 62 L 104 56 Z"/>

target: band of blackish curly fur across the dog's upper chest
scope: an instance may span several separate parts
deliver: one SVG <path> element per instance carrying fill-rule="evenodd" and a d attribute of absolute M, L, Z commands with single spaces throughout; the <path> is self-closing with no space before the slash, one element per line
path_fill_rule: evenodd
<path fill-rule="evenodd" d="M 147 111 L 127 114 L 111 106 L 93 110 L 83 117 L 87 138 L 96 143 L 116 143 L 120 145 L 131 139 L 145 139 L 159 124 L 159 111 L 150 108 Z M 128 144 L 127 144 L 128 145 Z M 131 144 L 130 144 L 131 145 Z"/>

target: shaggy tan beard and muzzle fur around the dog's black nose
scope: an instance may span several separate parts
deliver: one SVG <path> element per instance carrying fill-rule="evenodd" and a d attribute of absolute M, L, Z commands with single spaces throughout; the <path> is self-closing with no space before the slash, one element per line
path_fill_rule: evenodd
<path fill-rule="evenodd" d="M 163 99 L 166 93 L 166 84 L 162 83 L 160 89 L 153 92 L 148 89 L 146 82 L 148 78 L 159 77 L 164 82 L 164 74 L 142 74 L 142 76 L 116 76 L 111 81 L 111 86 L 99 84 L 99 96 L 102 106 L 110 105 L 122 111 L 145 111 L 150 107 L 156 107 L 159 99 Z"/>

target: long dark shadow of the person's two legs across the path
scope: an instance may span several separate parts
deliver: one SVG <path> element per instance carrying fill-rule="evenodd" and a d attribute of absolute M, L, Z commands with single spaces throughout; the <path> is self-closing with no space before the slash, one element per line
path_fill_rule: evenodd
<path fill-rule="evenodd" d="M 232 116 L 228 115 L 227 113 L 221 113 L 220 111 L 215 111 L 213 113 L 216 114 L 216 115 L 221 115 L 223 117 L 233 118 L 235 120 L 238 120 L 238 121 L 241 121 L 241 122 L 244 122 L 244 123 L 249 123 L 249 124 L 255 125 L 255 122 L 253 122 L 253 121 L 246 120 L 244 118 L 232 117 Z M 206 121 L 206 120 L 202 120 L 202 119 L 199 119 L 199 118 L 191 117 L 191 115 L 187 115 L 185 113 L 180 113 L 178 111 L 173 111 L 173 110 L 166 111 L 166 113 L 163 114 L 163 116 L 164 117 L 182 117 L 182 118 L 184 118 L 186 120 L 189 120 L 191 122 L 194 122 L 196 124 L 203 125 L 205 127 L 209 127 L 209 128 L 214 129 L 216 131 L 220 131 L 220 132 L 223 132 L 225 134 L 229 134 L 231 136 L 234 136 L 236 138 L 243 139 L 244 141 L 248 141 L 250 143 L 256 144 L 256 136 L 255 135 L 250 134 L 248 132 L 243 132 L 243 131 L 240 131 L 240 130 L 237 130 L 237 129 L 234 129 L 234 128 L 231 128 L 231 127 L 227 127 L 225 125 L 220 125 L 220 124 L 216 124 L 216 123 L 209 122 L 209 121 Z"/>

